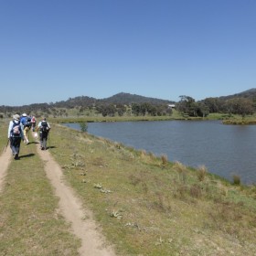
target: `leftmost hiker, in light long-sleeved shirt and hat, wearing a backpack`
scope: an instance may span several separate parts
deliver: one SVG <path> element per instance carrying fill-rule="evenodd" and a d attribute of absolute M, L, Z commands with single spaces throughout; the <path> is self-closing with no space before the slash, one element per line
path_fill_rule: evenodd
<path fill-rule="evenodd" d="M 13 116 L 13 120 L 10 121 L 8 128 L 8 140 L 10 141 L 10 147 L 14 159 L 18 159 L 20 142 L 24 138 L 19 119 L 20 116 L 18 114 L 15 114 Z"/>

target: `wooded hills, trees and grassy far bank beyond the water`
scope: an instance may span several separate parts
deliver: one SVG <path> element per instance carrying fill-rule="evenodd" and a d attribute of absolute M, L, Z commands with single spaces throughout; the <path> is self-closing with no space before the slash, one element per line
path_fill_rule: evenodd
<path fill-rule="evenodd" d="M 36 118 L 45 116 L 54 119 L 55 123 L 221 120 L 224 124 L 255 124 L 255 93 L 253 89 L 233 97 L 207 98 L 203 101 L 182 95 L 178 102 L 129 93 L 116 94 L 103 100 L 82 96 L 50 104 L 0 106 L 0 119 L 11 118 L 13 113 L 26 112 Z"/>

